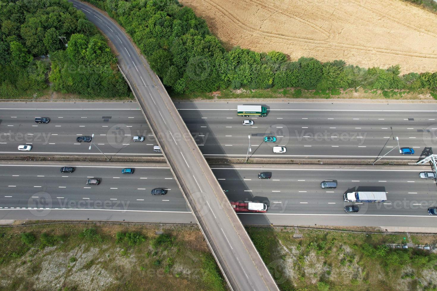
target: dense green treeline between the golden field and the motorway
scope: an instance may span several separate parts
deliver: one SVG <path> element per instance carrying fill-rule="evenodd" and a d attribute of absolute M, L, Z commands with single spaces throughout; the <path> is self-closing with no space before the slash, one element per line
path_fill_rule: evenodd
<path fill-rule="evenodd" d="M 290 62 L 277 51 L 257 53 L 239 47 L 225 51 L 205 21 L 177 0 L 88 1 L 125 27 L 163 83 L 176 93 L 243 86 L 319 91 L 437 87 L 437 72 L 399 75 L 399 65 L 366 69 L 341 60 L 321 63 L 302 57 Z"/>

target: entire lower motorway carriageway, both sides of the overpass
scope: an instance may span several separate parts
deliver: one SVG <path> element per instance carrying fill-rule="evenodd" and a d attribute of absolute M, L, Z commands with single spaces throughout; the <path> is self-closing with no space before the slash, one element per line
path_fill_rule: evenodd
<path fill-rule="evenodd" d="M 191 210 L 172 178 L 166 164 L 83 163 L 73 162 L 73 173 L 60 173 L 59 162 L 3 162 L 0 166 L 2 219 L 20 212 L 28 219 L 62 219 L 75 210 L 86 210 L 87 218 L 148 221 L 159 223 L 193 223 Z M 121 169 L 134 167 L 132 175 Z M 269 225 L 337 225 L 337 226 L 435 226 L 437 217 L 427 208 L 437 203 L 436 181 L 419 178 L 429 166 L 334 166 L 318 165 L 228 165 L 212 170 L 230 200 L 259 201 L 269 206 L 267 215 L 239 215 L 246 224 Z M 271 171 L 270 180 L 257 174 Z M 97 186 L 85 181 L 96 176 Z M 323 180 L 336 180 L 336 189 L 322 189 Z M 89 187 L 89 188 L 88 188 Z M 153 188 L 170 189 L 166 195 L 153 196 Z M 343 193 L 348 191 L 385 191 L 383 203 L 357 203 L 357 214 L 343 211 Z M 27 209 L 29 212 L 24 211 Z M 51 212 L 48 210 L 52 210 Z M 53 212 L 53 213 L 52 213 Z M 121 213 L 118 213 L 121 212 Z M 24 216 L 23 216 L 24 215 Z M 28 216 L 26 216 L 28 215 Z M 55 216 L 53 216 L 55 215 Z M 56 216 L 59 215 L 59 216 Z M 348 216 L 348 219 L 343 219 Z M 22 219 L 21 217 L 21 219 Z M 64 218 L 66 219 L 66 218 Z M 72 218 L 78 219 L 78 217 Z M 149 220 L 147 220 L 149 219 Z M 383 219 L 383 220 L 382 220 Z"/>

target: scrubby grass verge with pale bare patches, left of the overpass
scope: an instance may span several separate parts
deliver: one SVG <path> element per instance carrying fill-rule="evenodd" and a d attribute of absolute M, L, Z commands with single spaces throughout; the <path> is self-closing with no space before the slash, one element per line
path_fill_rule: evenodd
<path fill-rule="evenodd" d="M 0 228 L 1 290 L 225 290 L 195 226 Z"/>

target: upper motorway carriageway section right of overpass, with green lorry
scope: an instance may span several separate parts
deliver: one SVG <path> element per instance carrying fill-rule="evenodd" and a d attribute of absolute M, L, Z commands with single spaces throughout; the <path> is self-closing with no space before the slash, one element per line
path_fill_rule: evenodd
<path fill-rule="evenodd" d="M 417 159 L 437 142 L 437 104 L 176 102 L 207 157 L 315 157 Z M 267 106 L 265 117 L 240 117 L 237 105 Z M 251 119 L 253 126 L 243 125 Z M 266 135 L 277 137 L 264 143 Z M 400 147 L 412 147 L 402 155 Z M 274 154 L 275 145 L 287 147 Z M 389 152 L 392 150 L 391 152 Z"/>

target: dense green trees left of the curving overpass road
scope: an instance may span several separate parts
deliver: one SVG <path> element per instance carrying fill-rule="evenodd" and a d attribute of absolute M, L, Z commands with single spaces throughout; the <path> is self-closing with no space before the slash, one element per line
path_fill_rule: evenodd
<path fill-rule="evenodd" d="M 85 96 L 128 95 L 108 45 L 72 3 L 0 0 L 0 27 L 0 97 L 47 88 L 50 62 L 39 56 L 48 54 L 53 59 L 50 80 L 55 90 Z M 66 37 L 72 49 L 65 50 L 59 36 Z M 74 48 L 86 51 L 78 53 Z"/>

